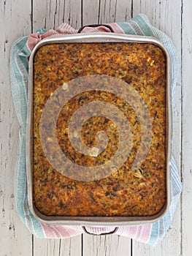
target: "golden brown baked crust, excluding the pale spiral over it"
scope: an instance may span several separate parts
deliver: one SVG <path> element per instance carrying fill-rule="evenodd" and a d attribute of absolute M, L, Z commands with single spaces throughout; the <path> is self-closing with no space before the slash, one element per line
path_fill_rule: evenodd
<path fill-rule="evenodd" d="M 150 151 L 135 172 L 130 166 L 141 140 L 136 113 L 115 94 L 86 91 L 71 99 L 57 121 L 58 142 L 69 159 L 80 165 L 94 166 L 110 159 L 118 145 L 118 133 L 112 121 L 93 117 L 85 121 L 82 140 L 94 146 L 95 135 L 104 130 L 107 148 L 99 157 L 82 156 L 68 138 L 69 118 L 91 100 L 113 102 L 131 123 L 131 156 L 111 176 L 100 181 L 74 181 L 62 176 L 49 164 L 39 140 L 39 121 L 45 102 L 58 87 L 85 75 L 110 75 L 136 89 L 147 104 L 153 119 Z M 39 48 L 34 57 L 34 204 L 49 216 L 150 216 L 165 203 L 165 86 L 166 61 L 155 45 L 139 43 L 52 44 Z M 111 127 L 110 131 L 108 127 Z M 90 131 L 92 135 L 90 135 Z M 69 170 L 70 171 L 70 170 Z"/>

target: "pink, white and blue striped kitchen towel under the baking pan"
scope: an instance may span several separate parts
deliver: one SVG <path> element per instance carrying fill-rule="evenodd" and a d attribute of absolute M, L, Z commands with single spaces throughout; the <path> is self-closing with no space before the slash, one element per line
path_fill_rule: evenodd
<path fill-rule="evenodd" d="M 174 89 L 176 86 L 178 72 L 178 56 L 174 48 L 172 40 L 162 31 L 150 25 L 149 20 L 145 15 L 137 15 L 128 22 L 110 23 L 115 33 L 138 34 L 156 37 L 159 39 L 169 51 L 172 60 L 172 101 L 174 102 Z M 83 32 L 108 32 L 110 31 L 104 26 L 98 28 L 85 28 Z M 27 110 L 27 93 L 28 93 L 28 57 L 31 50 L 37 45 L 37 42 L 50 37 L 53 34 L 75 34 L 76 29 L 73 29 L 69 24 L 62 24 L 56 30 L 46 31 L 39 29 L 37 33 L 31 34 L 28 37 L 21 37 L 12 45 L 10 53 L 10 79 L 12 86 L 12 99 L 15 105 L 15 111 L 20 124 L 19 142 L 18 142 L 18 159 L 15 166 L 15 200 L 20 219 L 26 227 L 37 238 L 67 238 L 85 233 L 85 228 L 88 233 L 110 233 L 114 227 L 81 227 L 81 226 L 64 226 L 64 225 L 46 225 L 39 222 L 31 214 L 27 203 L 27 186 L 26 186 L 26 110 Z M 177 202 L 180 199 L 181 182 L 172 157 L 171 168 L 172 181 L 172 200 L 169 206 L 169 211 L 166 215 L 151 225 L 144 226 L 120 226 L 115 230 L 115 234 L 133 238 L 146 244 L 155 246 L 159 240 L 164 238 L 166 231 L 171 225 Z"/>

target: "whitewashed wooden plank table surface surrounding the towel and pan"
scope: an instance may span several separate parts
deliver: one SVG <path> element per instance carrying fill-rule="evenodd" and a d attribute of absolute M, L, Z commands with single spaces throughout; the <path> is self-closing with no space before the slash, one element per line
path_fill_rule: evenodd
<path fill-rule="evenodd" d="M 189 256 L 192 244 L 192 1 L 191 0 L 1 0 L 0 1 L 1 86 L 1 173 L 0 256 Z M 71 239 L 37 239 L 20 221 L 14 200 L 14 166 L 17 157 L 18 121 L 9 82 L 9 50 L 18 37 L 40 27 L 56 28 L 67 22 L 75 28 L 88 23 L 126 21 L 145 13 L 151 23 L 169 37 L 180 56 L 174 103 L 174 157 L 183 180 L 183 195 L 172 227 L 155 248 L 120 236 L 82 235 Z"/>

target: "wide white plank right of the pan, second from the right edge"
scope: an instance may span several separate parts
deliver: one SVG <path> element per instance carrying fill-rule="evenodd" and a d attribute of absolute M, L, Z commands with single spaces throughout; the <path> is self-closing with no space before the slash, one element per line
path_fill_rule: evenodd
<path fill-rule="evenodd" d="M 181 59 L 181 6 L 180 0 L 133 1 L 133 15 L 145 13 L 153 26 L 164 31 L 172 38 Z M 171 15 L 170 15 L 171 14 Z M 177 78 L 177 87 L 173 105 L 173 155 L 177 167 L 181 164 L 181 67 Z M 166 238 L 153 248 L 145 244 L 133 242 L 133 255 L 181 255 L 181 209 L 177 206 L 176 214 L 166 234 Z M 174 244 L 174 246 L 169 246 Z"/>

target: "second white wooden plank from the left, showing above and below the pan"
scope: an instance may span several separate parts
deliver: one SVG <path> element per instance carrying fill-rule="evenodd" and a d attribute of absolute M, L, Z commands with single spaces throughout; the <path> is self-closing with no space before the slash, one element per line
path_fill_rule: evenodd
<path fill-rule="evenodd" d="M 61 23 L 69 23 L 74 28 L 81 26 L 81 1 L 33 1 L 33 28 L 56 29 Z M 68 239 L 34 238 L 34 255 L 81 255 L 81 236 Z"/>

